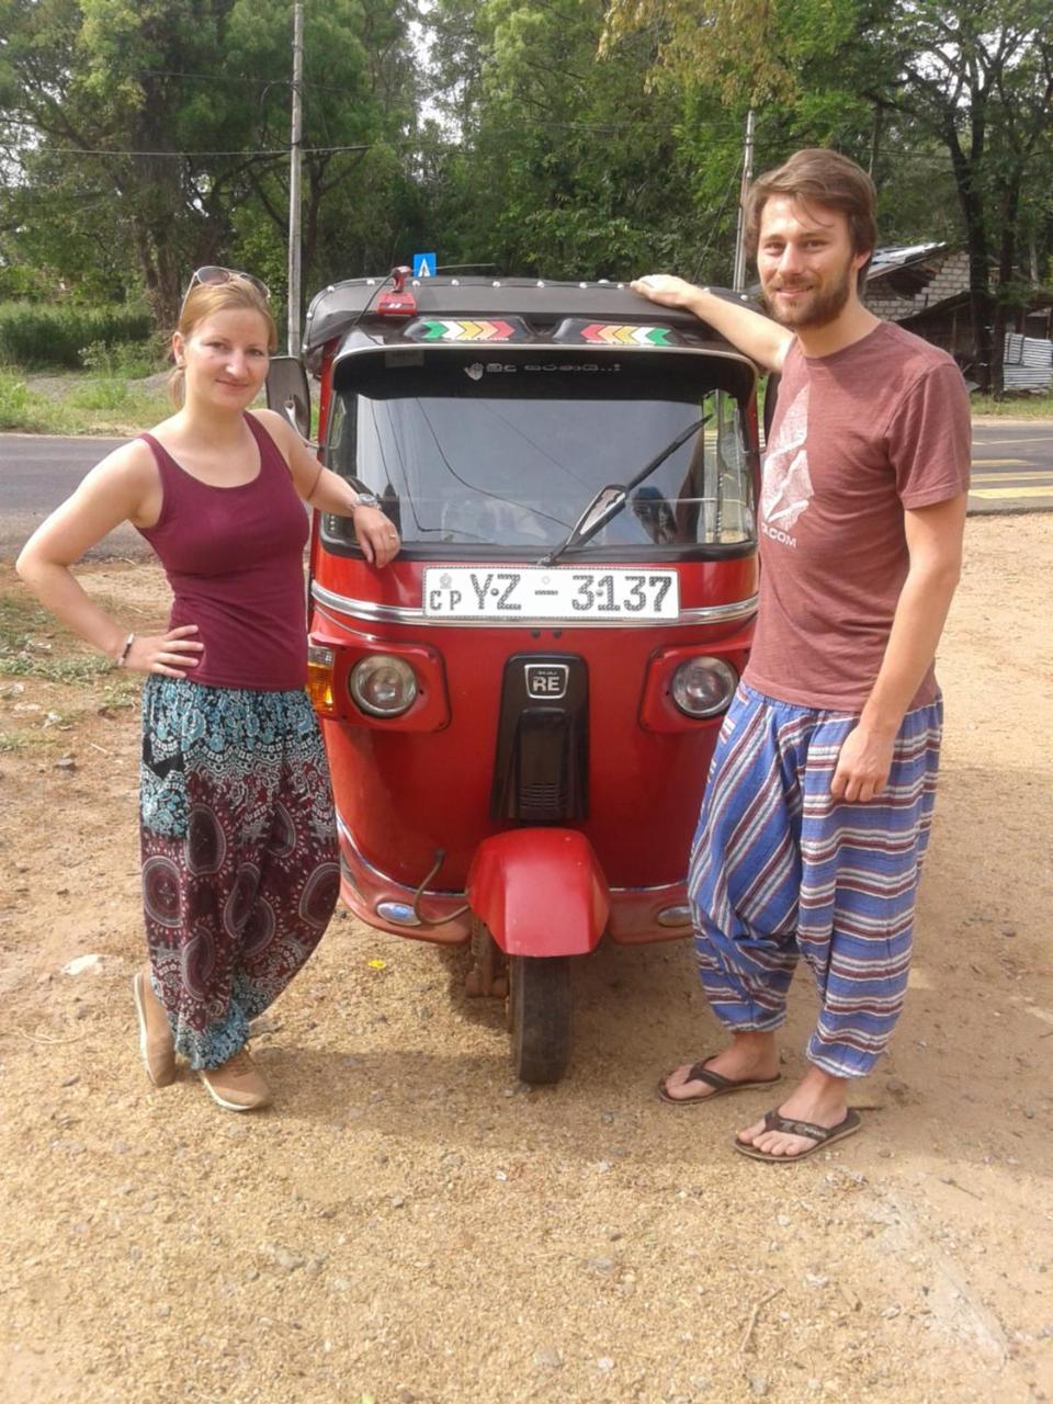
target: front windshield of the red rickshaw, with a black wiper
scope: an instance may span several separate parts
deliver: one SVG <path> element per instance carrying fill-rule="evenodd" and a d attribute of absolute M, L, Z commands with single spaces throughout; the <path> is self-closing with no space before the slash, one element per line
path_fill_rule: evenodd
<path fill-rule="evenodd" d="M 733 362 L 504 354 L 501 362 L 476 351 L 351 365 L 357 378 L 334 399 L 327 462 L 376 493 L 404 548 L 541 553 L 566 538 L 600 487 L 626 483 L 703 416 L 705 428 L 633 489 L 590 550 L 632 556 L 753 541 L 741 414 L 715 385 L 731 379 Z M 324 529 L 351 539 L 340 518 L 326 518 Z"/>

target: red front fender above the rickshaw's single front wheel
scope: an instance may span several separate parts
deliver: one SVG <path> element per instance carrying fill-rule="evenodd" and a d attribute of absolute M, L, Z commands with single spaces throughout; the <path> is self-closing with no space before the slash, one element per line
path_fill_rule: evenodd
<path fill-rule="evenodd" d="M 510 956 L 587 955 L 611 910 L 600 861 L 574 828 L 484 838 L 468 873 L 468 900 Z"/>

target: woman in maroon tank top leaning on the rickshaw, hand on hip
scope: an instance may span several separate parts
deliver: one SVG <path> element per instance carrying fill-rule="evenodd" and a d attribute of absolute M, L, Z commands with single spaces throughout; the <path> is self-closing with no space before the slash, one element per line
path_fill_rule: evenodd
<path fill-rule="evenodd" d="M 156 1087 L 190 1060 L 215 1101 L 271 1099 L 249 1024 L 305 963 L 340 889 L 333 799 L 306 692 L 300 500 L 350 515 L 366 559 L 392 522 L 270 410 L 249 410 L 277 343 L 261 284 L 191 279 L 171 345 L 177 411 L 110 453 L 27 542 L 34 594 L 143 688 L 140 834 L 149 966 L 133 980 Z M 129 633 L 70 566 L 122 521 L 173 588 L 168 629 Z"/>

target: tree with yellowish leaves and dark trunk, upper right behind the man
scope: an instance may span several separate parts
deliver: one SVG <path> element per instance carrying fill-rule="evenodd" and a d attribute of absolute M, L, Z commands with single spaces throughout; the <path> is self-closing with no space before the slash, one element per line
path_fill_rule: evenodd
<path fill-rule="evenodd" d="M 969 249 L 974 373 L 983 389 L 1000 393 L 1005 317 L 1026 277 L 1018 234 L 1024 227 L 1038 243 L 1050 229 L 1042 178 L 1053 139 L 1047 0 L 824 0 L 807 3 L 807 14 L 802 6 L 612 0 L 607 44 L 647 29 L 658 69 L 719 83 L 724 98 L 740 104 L 775 97 L 800 112 L 835 77 L 872 110 L 863 164 L 876 170 L 890 140 L 910 156 L 942 149 Z M 831 145 L 859 159 L 851 142 Z"/>

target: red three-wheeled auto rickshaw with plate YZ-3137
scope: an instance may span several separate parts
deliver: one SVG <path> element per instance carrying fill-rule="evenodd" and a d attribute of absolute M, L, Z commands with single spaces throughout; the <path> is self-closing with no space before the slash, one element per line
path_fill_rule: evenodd
<path fill-rule="evenodd" d="M 733 298 L 734 293 L 724 296 Z M 355 278 L 268 382 L 402 536 L 316 514 L 310 692 L 345 903 L 470 942 L 515 1073 L 557 1081 L 571 958 L 688 934 L 685 876 L 757 608 L 755 368 L 622 284 Z"/>

